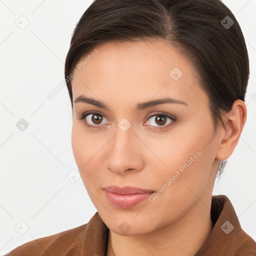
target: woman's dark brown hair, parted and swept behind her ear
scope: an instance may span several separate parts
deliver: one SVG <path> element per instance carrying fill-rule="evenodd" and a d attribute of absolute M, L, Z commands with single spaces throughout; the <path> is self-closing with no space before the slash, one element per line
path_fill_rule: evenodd
<path fill-rule="evenodd" d="M 65 60 L 72 108 L 70 74 L 83 55 L 103 42 L 147 39 L 166 39 L 189 58 L 209 97 L 215 130 L 223 124 L 220 110 L 244 101 L 247 48 L 237 20 L 220 0 L 94 0 L 75 26 Z M 220 161 L 219 174 L 225 163 Z"/>

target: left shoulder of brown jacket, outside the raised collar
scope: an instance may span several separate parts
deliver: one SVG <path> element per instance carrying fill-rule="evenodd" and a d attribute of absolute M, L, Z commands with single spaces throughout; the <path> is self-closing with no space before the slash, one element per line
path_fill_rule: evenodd
<path fill-rule="evenodd" d="M 79 254 L 82 236 L 87 224 L 26 242 L 4 256 L 58 256 L 69 250 L 72 252 L 71 254 Z"/>

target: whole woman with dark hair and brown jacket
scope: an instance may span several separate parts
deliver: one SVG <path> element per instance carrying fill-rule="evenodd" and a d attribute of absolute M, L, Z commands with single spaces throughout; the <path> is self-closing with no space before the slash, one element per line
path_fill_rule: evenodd
<path fill-rule="evenodd" d="M 7 255 L 256 255 L 212 196 L 246 119 L 244 38 L 219 0 L 94 0 L 65 61 L 88 223 Z"/>

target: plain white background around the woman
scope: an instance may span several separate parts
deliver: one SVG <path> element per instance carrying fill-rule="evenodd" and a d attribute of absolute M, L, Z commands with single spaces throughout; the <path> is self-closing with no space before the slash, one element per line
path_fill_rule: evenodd
<path fill-rule="evenodd" d="M 46 98 L 64 78 L 71 34 L 91 2 L 0 0 L 0 254 L 82 225 L 96 212 L 81 178 L 72 183 L 66 176 L 78 171 L 67 88 Z M 247 120 L 213 194 L 229 197 L 242 228 L 255 240 L 256 0 L 223 2 L 242 28 L 251 74 Z M 21 15 L 29 21 L 24 29 L 15 23 Z M 16 127 L 21 118 L 29 124 L 24 131 Z M 29 226 L 24 234 L 26 225 L 20 221 Z"/>

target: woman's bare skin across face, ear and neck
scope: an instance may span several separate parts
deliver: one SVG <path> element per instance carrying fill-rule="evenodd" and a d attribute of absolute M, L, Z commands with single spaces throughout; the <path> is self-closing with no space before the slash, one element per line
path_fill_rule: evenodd
<path fill-rule="evenodd" d="M 238 142 L 246 106 L 236 100 L 230 112 L 222 113 L 226 127 L 219 124 L 215 132 L 208 97 L 191 62 L 168 41 L 107 42 L 96 48 L 99 52 L 72 79 L 71 142 L 88 195 L 110 229 L 107 256 L 194 255 L 212 229 L 210 206 L 218 163 Z M 173 67 L 183 73 L 178 80 L 169 75 Z M 108 109 L 74 103 L 80 95 L 100 100 Z M 166 96 L 187 105 L 135 109 L 138 102 Z M 78 119 L 90 110 L 105 117 L 97 116 L 101 122 L 93 115 Z M 168 127 L 168 117 L 157 121 L 161 113 L 176 121 Z M 118 127 L 123 118 L 131 124 L 127 131 Z M 89 129 L 85 120 L 102 126 Z M 106 199 L 106 185 L 159 190 L 197 151 L 197 159 L 153 202 L 146 199 L 120 208 Z M 126 233 L 118 228 L 123 221 L 130 226 Z"/>

